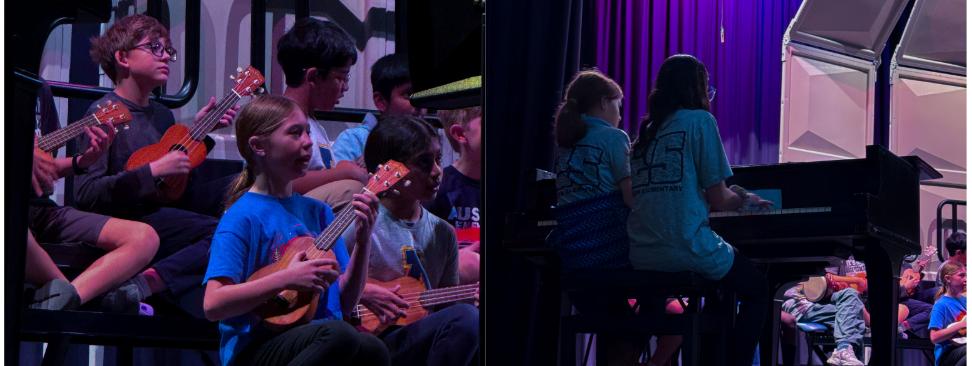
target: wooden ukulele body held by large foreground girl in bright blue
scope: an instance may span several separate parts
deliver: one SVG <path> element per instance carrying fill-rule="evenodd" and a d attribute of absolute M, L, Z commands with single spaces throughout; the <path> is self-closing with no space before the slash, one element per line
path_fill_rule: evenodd
<path fill-rule="evenodd" d="M 267 277 L 276 272 L 287 269 L 298 253 L 306 251 L 311 259 L 335 259 L 331 251 L 317 249 L 314 238 L 301 236 L 291 239 L 284 245 L 280 259 L 271 265 L 253 273 L 247 282 Z M 340 268 L 333 268 L 340 272 Z M 310 291 L 284 290 L 276 298 L 268 300 L 253 310 L 253 313 L 263 319 L 263 325 L 275 332 L 282 332 L 298 325 L 310 323 L 317 312 L 320 294 Z"/>

